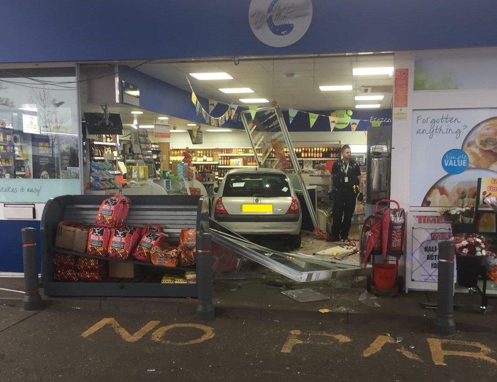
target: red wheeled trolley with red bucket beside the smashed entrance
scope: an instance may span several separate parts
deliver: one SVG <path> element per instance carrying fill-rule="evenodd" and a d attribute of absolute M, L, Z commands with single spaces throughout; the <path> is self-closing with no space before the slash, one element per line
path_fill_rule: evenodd
<path fill-rule="evenodd" d="M 378 210 L 380 203 L 388 203 L 388 206 Z M 390 208 L 390 203 L 396 204 L 397 208 Z M 372 264 L 371 276 L 367 278 L 368 292 L 386 292 L 394 297 L 403 291 L 404 279 L 399 276 L 399 259 L 403 255 L 404 237 L 404 209 L 395 200 L 378 200 L 374 213 L 368 216 L 361 231 L 361 266 L 366 267 L 369 260 Z M 381 263 L 375 262 L 377 256 L 381 256 Z"/>

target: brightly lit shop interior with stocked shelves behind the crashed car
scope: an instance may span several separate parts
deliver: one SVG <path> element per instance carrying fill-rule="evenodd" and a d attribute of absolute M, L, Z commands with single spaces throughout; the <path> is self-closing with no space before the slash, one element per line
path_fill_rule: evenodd
<path fill-rule="evenodd" d="M 135 68 L 137 65 L 139 67 Z M 249 105 L 278 104 L 286 116 L 289 110 L 299 111 L 291 123 L 286 117 L 287 128 L 306 186 L 315 190 L 312 197 L 315 198 L 319 226 L 326 231 L 332 213 L 328 195 L 332 187 L 329 170 L 340 156 L 340 147 L 351 146 L 352 157 L 361 166 L 366 184 L 368 129 L 391 126 L 393 54 L 389 53 L 129 63 L 128 68 L 133 69 L 127 72 L 124 69 L 124 77 L 139 71 L 148 79 L 184 93 L 186 101 L 179 104 L 176 100 L 171 105 L 163 100 L 151 102 L 145 98 L 147 89 L 130 80 L 131 85 L 122 90 L 126 93 L 123 96 L 131 96 L 123 99 L 124 104 L 105 102 L 110 115 L 119 115 L 122 129 L 115 134 L 91 134 L 90 130 L 83 129 L 85 194 L 112 194 L 121 189 L 124 195 L 190 194 L 212 199 L 215 188 L 229 170 L 257 167 L 239 112 Z M 226 78 L 198 79 L 191 75 L 195 73 L 224 73 Z M 238 105 L 238 112 L 226 123 L 209 125 L 196 113 L 195 105 L 190 101 L 192 90 L 207 100 L 214 108 L 213 113 L 217 102 Z M 82 92 L 85 92 L 84 88 Z M 95 99 L 85 94 L 80 99 L 84 123 L 92 115 L 98 119 L 105 114 L 102 100 L 89 102 Z M 205 105 L 205 108 L 211 106 Z M 323 122 L 335 111 L 350 114 L 344 126 Z M 319 115 L 320 123 L 310 126 L 309 119 L 302 118 L 304 114 L 307 116 L 306 112 Z M 359 125 L 361 128 L 353 125 L 354 117 L 363 121 Z M 159 127 L 154 128 L 154 124 Z M 160 127 L 166 127 L 168 132 L 161 134 Z M 193 129 L 202 132 L 200 144 L 192 143 Z M 185 150 L 191 156 L 187 170 L 182 167 Z M 260 154 L 258 148 L 256 151 Z M 356 205 L 351 231 L 354 236 L 358 235 L 364 222 L 367 202 Z"/>

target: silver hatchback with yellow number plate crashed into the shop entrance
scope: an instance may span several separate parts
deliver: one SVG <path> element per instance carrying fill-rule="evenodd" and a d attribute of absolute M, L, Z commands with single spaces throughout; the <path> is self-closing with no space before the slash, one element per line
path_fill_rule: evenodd
<path fill-rule="evenodd" d="M 300 247 L 300 204 L 281 170 L 229 171 L 214 195 L 212 217 L 239 234 L 287 235 L 290 247 Z"/>

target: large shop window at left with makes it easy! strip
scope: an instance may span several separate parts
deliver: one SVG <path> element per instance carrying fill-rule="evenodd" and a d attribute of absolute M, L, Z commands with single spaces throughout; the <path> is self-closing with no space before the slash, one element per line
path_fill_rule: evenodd
<path fill-rule="evenodd" d="M 80 194 L 74 68 L 0 69 L 0 202 Z"/>

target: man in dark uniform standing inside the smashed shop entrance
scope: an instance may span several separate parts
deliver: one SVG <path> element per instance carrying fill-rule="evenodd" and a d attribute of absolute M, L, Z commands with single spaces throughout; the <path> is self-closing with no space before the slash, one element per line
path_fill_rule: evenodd
<path fill-rule="evenodd" d="M 341 149 L 342 159 L 333 163 L 333 227 L 329 241 L 348 240 L 355 200 L 361 184 L 361 169 L 350 159 L 350 146 Z"/>

